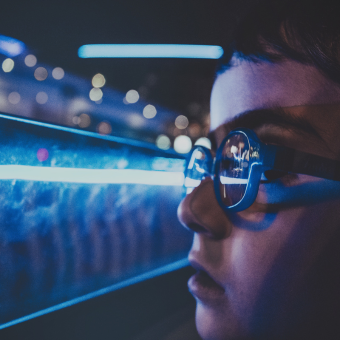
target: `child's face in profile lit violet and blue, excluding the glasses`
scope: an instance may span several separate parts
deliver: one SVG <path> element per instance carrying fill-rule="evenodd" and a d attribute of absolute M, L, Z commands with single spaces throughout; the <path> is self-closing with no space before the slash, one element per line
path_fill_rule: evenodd
<path fill-rule="evenodd" d="M 339 159 L 338 85 L 294 61 L 234 62 L 212 91 L 213 144 L 245 127 L 262 142 Z M 313 285 L 327 280 L 310 273 L 338 227 L 339 191 L 338 182 L 289 174 L 260 184 L 256 202 L 239 213 L 222 211 L 211 179 L 184 198 L 178 215 L 195 231 L 189 260 L 198 274 L 189 289 L 203 339 L 281 334 L 308 315 Z"/>

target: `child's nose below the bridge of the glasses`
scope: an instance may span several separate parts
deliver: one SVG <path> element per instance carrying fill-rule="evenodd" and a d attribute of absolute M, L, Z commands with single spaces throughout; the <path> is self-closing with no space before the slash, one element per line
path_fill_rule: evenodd
<path fill-rule="evenodd" d="M 213 239 L 226 238 L 231 233 L 232 224 L 216 200 L 210 178 L 204 179 L 182 200 L 177 215 L 184 227 Z"/>

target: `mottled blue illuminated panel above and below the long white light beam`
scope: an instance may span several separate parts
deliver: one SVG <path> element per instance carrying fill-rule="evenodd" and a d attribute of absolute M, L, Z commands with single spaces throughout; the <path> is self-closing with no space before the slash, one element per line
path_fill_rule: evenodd
<path fill-rule="evenodd" d="M 9 164 L 178 173 L 183 162 L 113 137 L 0 118 L 0 178 Z M 179 185 L 0 179 L 0 326 L 185 258 L 181 196 Z"/>

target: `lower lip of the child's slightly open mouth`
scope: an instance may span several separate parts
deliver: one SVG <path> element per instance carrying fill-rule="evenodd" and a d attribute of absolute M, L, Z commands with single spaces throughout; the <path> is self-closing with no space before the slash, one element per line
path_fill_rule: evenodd
<path fill-rule="evenodd" d="M 195 298 L 207 302 L 221 299 L 225 290 L 207 272 L 199 270 L 188 281 L 188 287 Z"/>

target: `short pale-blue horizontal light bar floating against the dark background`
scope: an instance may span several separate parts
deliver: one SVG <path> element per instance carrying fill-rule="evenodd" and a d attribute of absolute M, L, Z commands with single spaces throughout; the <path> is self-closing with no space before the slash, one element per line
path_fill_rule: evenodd
<path fill-rule="evenodd" d="M 213 45 L 92 44 L 78 50 L 80 58 L 199 58 L 219 59 L 223 48 Z"/>

